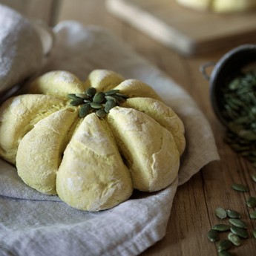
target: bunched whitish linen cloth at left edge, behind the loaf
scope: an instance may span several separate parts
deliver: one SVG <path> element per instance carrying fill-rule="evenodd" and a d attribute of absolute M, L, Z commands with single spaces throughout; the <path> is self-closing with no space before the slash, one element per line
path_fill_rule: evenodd
<path fill-rule="evenodd" d="M 27 79 L 42 63 L 43 48 L 33 24 L 0 4 L 0 93 Z"/>

